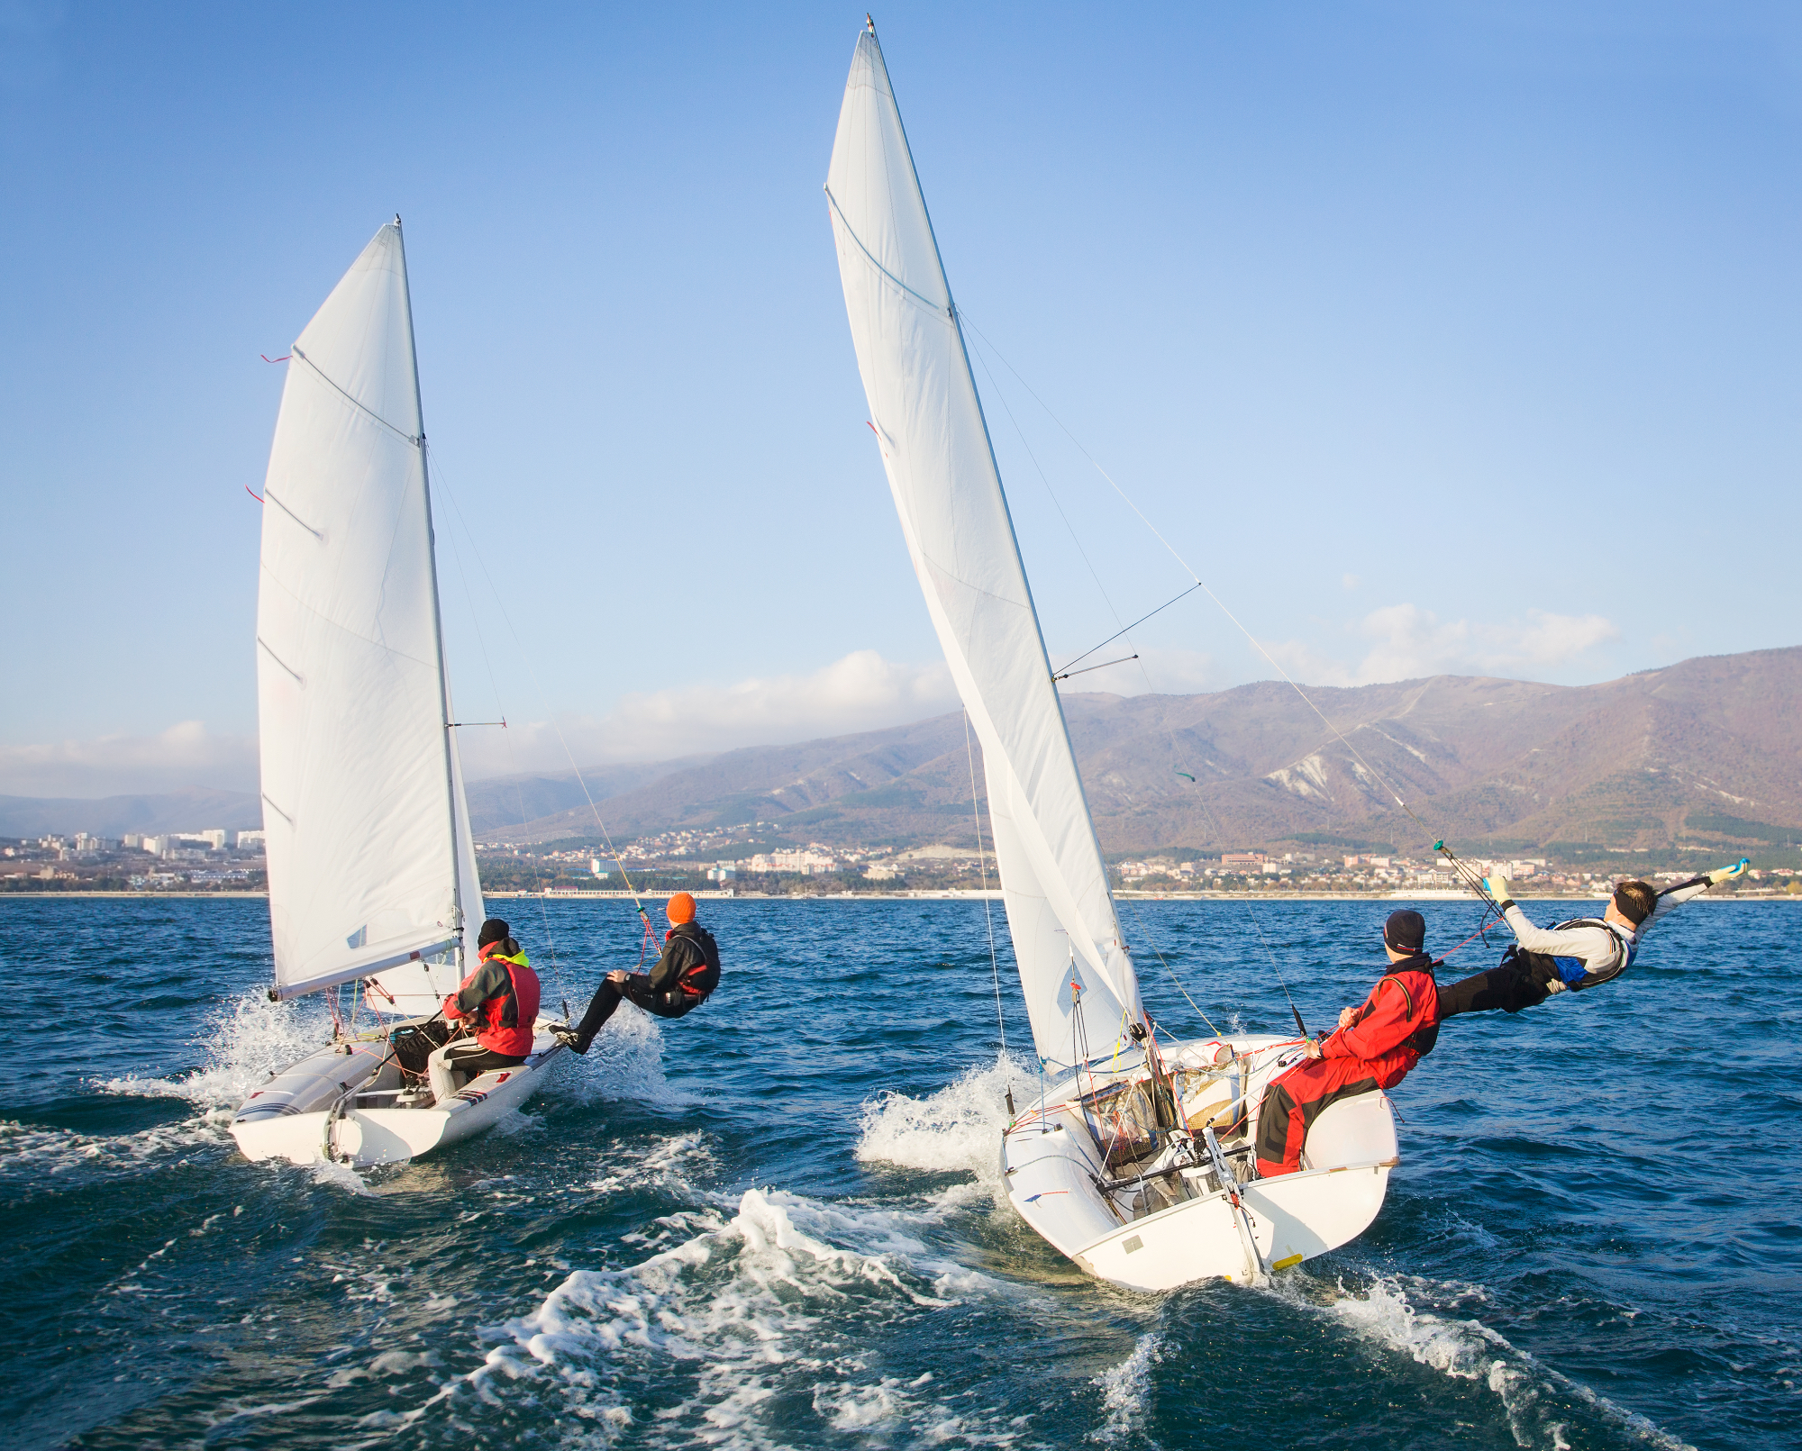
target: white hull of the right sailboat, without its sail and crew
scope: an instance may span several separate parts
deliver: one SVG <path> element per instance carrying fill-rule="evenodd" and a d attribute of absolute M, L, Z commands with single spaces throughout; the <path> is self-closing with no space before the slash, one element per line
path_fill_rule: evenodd
<path fill-rule="evenodd" d="M 1229 1062 L 1216 1066 L 1229 1053 Z M 1105 1161 L 1105 1145 L 1119 1140 L 1105 1123 L 1097 1132 L 1105 1114 L 1096 1100 L 1099 1095 L 1105 1104 L 1144 1084 L 1142 1059 L 1065 1078 L 1002 1140 L 1007 1197 L 1056 1249 L 1130 1289 L 1162 1291 L 1209 1278 L 1254 1284 L 1324 1255 L 1361 1235 L 1382 1208 L 1398 1161 L 1395 1116 L 1382 1093 L 1341 1100 L 1314 1122 L 1303 1172 L 1252 1179 L 1263 1089 L 1299 1055 L 1294 1041 L 1270 1037 L 1168 1050 L 1166 1068 L 1195 1149 L 1132 1163 Z M 1209 1123 L 1236 1170 L 1231 1194 L 1209 1167 L 1202 1134 Z"/>

